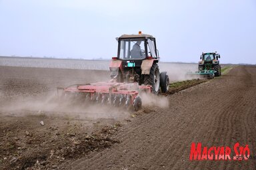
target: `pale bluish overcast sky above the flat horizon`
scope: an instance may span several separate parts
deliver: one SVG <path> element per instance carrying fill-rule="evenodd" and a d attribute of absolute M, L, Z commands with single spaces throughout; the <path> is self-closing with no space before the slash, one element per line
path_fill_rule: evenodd
<path fill-rule="evenodd" d="M 256 0 L 0 0 L 0 56 L 111 58 L 115 37 L 153 35 L 161 61 L 256 64 Z"/>

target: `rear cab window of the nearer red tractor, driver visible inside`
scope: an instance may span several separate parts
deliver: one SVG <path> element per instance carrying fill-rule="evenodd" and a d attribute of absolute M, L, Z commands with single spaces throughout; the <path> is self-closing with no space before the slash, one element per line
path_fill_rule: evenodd
<path fill-rule="evenodd" d="M 145 58 L 144 39 L 122 39 L 119 43 L 120 59 L 143 59 Z"/>

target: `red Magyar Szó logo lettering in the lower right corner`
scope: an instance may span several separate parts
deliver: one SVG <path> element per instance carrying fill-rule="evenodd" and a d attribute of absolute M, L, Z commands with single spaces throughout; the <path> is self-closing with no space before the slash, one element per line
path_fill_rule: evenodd
<path fill-rule="evenodd" d="M 233 155 L 233 156 L 232 156 Z M 191 143 L 189 159 L 193 160 L 215 160 L 215 161 L 242 161 L 251 159 L 249 145 L 245 147 L 240 146 L 239 143 L 235 143 L 231 149 L 228 146 L 212 146 L 212 147 L 202 147 L 202 143 Z"/>

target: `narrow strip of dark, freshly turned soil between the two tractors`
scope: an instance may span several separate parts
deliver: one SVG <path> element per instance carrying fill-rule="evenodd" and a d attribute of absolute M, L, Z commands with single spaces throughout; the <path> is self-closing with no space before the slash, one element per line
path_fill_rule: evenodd
<path fill-rule="evenodd" d="M 201 84 L 203 82 L 207 82 L 207 80 L 193 79 L 193 80 L 185 80 L 181 82 L 173 82 L 169 85 L 168 92 L 163 95 L 167 96 L 170 94 L 175 94 L 176 92 L 185 90 L 186 88 L 190 88 L 192 86 L 196 86 L 197 84 Z"/>

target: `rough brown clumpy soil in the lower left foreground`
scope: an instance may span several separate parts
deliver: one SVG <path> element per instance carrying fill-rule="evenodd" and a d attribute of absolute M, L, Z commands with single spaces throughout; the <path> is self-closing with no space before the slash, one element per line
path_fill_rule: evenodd
<path fill-rule="evenodd" d="M 57 169 L 65 162 L 119 143 L 115 133 L 121 126 L 116 122 L 88 134 L 77 123 L 41 129 L 27 129 L 27 122 L 16 123 L 0 126 L 0 169 Z"/>

